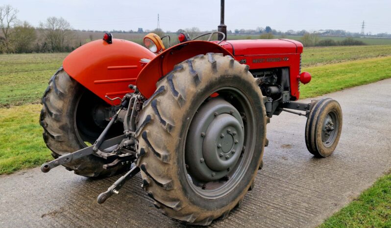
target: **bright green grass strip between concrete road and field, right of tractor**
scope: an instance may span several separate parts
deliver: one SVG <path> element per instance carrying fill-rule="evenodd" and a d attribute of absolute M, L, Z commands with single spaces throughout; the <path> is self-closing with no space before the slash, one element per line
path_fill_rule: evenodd
<path fill-rule="evenodd" d="M 391 78 L 391 56 L 303 68 L 312 80 L 300 86 L 300 98 L 361 86 Z"/>

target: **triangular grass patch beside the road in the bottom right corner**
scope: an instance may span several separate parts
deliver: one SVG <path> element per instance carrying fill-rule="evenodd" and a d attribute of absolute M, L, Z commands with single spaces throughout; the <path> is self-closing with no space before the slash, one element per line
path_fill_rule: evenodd
<path fill-rule="evenodd" d="M 391 174 L 377 180 L 319 228 L 391 227 Z"/>

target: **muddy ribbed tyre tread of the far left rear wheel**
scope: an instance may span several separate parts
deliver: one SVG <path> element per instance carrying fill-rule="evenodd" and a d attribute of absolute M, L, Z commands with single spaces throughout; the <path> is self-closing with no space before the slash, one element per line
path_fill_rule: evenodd
<path fill-rule="evenodd" d="M 61 67 L 49 80 L 49 86 L 42 97 L 43 108 L 40 124 L 44 129 L 43 137 L 51 155 L 61 155 L 83 149 L 86 144 L 76 133 L 76 107 L 84 87 L 73 80 Z M 68 170 L 86 177 L 110 176 L 123 167 L 105 170 L 106 161 L 90 155 L 64 164 Z"/>

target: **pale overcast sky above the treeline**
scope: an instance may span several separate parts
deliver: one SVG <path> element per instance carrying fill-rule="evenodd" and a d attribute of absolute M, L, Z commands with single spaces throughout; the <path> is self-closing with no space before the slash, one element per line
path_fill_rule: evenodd
<path fill-rule="evenodd" d="M 0 0 L 19 10 L 18 19 L 39 26 L 48 17 L 63 17 L 75 29 L 136 30 L 160 27 L 177 31 L 216 29 L 220 0 Z M 266 27 L 287 31 L 342 29 L 391 33 L 391 0 L 225 0 L 228 30 Z"/>

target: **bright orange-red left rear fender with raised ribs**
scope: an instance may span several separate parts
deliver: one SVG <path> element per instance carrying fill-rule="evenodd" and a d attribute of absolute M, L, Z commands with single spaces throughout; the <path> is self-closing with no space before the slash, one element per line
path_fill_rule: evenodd
<path fill-rule="evenodd" d="M 64 70 L 78 83 L 108 104 L 110 98 L 121 97 L 135 85 L 137 75 L 145 66 L 141 59 L 153 59 L 155 54 L 131 41 L 113 39 L 112 44 L 97 40 L 78 47 L 63 62 Z"/>

